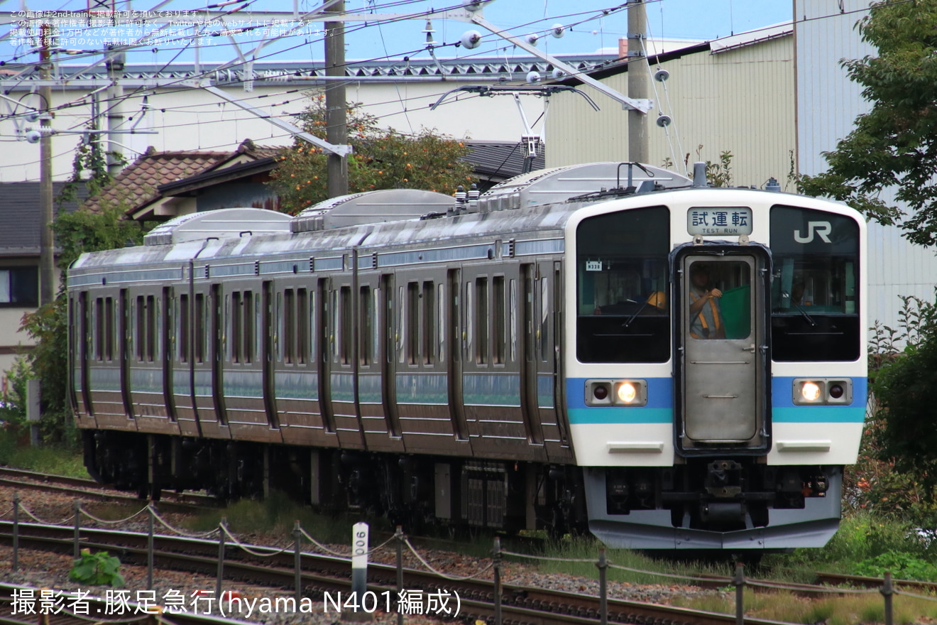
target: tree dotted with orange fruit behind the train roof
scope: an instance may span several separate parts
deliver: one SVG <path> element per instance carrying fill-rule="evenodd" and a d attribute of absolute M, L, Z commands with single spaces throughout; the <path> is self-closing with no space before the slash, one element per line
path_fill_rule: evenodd
<path fill-rule="evenodd" d="M 306 132 L 325 138 L 324 96 L 312 97 L 300 114 L 300 122 Z M 416 135 L 380 128 L 378 119 L 361 111 L 359 105 L 350 106 L 348 127 L 349 143 L 354 148 L 349 156 L 350 193 L 386 188 L 452 193 L 456 186 L 472 182 L 471 166 L 460 160 L 468 154 L 462 141 L 425 128 Z M 328 199 L 328 157 L 320 148 L 296 140 L 279 158 L 268 184 L 283 201 L 284 211 L 296 214 Z"/>

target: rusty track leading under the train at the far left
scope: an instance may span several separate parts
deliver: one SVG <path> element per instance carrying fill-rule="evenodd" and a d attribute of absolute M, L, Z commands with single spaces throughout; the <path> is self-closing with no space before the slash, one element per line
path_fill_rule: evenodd
<path fill-rule="evenodd" d="M 114 503 L 139 503 L 143 499 L 135 495 L 114 490 L 106 485 L 97 484 L 94 480 L 52 475 L 26 469 L 11 469 L 0 467 L 0 485 L 10 488 L 24 488 L 51 493 L 73 495 L 76 498 L 94 498 L 99 501 Z M 216 508 L 218 499 L 199 493 L 165 492 L 159 500 L 161 508 L 173 512 L 195 512 L 202 508 Z"/>

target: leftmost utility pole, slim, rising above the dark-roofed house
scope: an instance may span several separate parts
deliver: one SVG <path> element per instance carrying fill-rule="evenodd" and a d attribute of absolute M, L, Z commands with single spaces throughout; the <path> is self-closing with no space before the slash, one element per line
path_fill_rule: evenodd
<path fill-rule="evenodd" d="M 39 305 L 52 304 L 55 294 L 55 249 L 52 239 L 52 72 L 49 67 L 50 30 L 52 26 L 39 26 L 39 87 L 41 126 L 39 136 Z"/>

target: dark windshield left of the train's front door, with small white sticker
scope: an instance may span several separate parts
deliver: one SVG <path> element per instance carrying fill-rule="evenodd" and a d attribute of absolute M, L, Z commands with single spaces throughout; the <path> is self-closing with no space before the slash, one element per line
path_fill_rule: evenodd
<path fill-rule="evenodd" d="M 576 356 L 582 363 L 670 359 L 665 206 L 583 219 L 576 231 Z"/>

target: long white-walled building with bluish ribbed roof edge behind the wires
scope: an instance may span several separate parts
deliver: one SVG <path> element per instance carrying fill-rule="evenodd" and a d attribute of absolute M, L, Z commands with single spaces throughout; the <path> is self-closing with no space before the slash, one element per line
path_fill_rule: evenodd
<path fill-rule="evenodd" d="M 615 54 L 563 56 L 582 70 L 601 67 Z M 0 89 L 9 99 L 0 99 L 0 140 L 11 149 L 0 150 L 0 182 L 37 180 L 39 145 L 24 141 L 27 127 L 39 126 L 26 114 L 39 106 L 37 72 L 0 70 Z M 552 66 L 533 57 L 498 57 L 432 60 L 394 60 L 350 64 L 347 97 L 361 102 L 364 111 L 378 117 L 379 126 L 401 132 L 435 128 L 457 139 L 519 141 L 524 122 L 513 97 L 478 97 L 464 92 L 447 97 L 435 111 L 430 105 L 451 90 L 469 85 L 521 84 L 531 71 L 550 75 Z M 130 66 L 119 80 L 124 97 L 109 97 L 105 67 L 66 66 L 55 68 L 52 88 L 53 178 L 65 179 L 72 171 L 74 149 L 80 141 L 75 131 L 86 129 L 97 119 L 98 128 L 108 127 L 108 116 L 123 116 L 115 123 L 126 131 L 114 139 L 132 161 L 153 146 L 157 152 L 174 150 L 234 150 L 245 139 L 264 145 L 289 145 L 284 130 L 271 125 L 220 97 L 194 86 L 207 80 L 230 97 L 237 98 L 265 115 L 295 121 L 293 115 L 309 103 L 308 93 L 321 89 L 321 62 L 256 63 L 249 76 L 232 69 L 213 71 L 211 66 Z M 250 79 L 245 82 L 245 79 Z M 90 94 L 97 93 L 97 105 Z M 521 96 L 528 124 L 543 113 L 543 98 Z M 97 107 L 97 108 L 96 108 Z M 97 111 L 97 115 L 95 114 Z M 539 130 L 542 127 L 536 126 Z M 136 134 L 128 134 L 129 130 Z"/>

